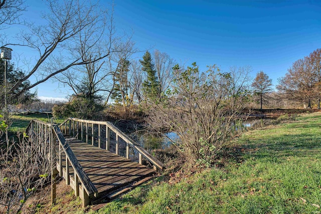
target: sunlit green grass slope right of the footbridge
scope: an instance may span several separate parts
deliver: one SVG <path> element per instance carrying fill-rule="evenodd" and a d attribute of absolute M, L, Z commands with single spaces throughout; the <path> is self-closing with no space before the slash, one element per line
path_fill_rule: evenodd
<path fill-rule="evenodd" d="M 321 114 L 250 131 L 222 168 L 162 177 L 95 213 L 321 213 Z"/>

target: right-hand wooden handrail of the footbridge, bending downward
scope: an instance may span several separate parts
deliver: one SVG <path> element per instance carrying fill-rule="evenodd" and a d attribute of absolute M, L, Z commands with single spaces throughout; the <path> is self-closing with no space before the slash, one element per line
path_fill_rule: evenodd
<path fill-rule="evenodd" d="M 119 130 L 111 122 L 84 120 L 84 119 L 78 119 L 78 118 L 72 118 L 72 117 L 68 118 L 67 120 L 77 121 L 77 122 L 82 122 L 82 123 L 87 123 L 87 124 L 106 125 L 106 132 L 108 131 L 107 129 L 112 130 L 113 132 L 116 133 L 116 135 L 120 136 L 126 143 L 128 143 L 129 146 L 136 149 L 138 151 L 139 155 L 142 155 L 143 157 L 146 158 L 146 160 L 151 162 L 154 165 L 154 167 L 156 167 L 160 170 L 164 169 L 164 164 L 161 161 L 159 161 L 155 157 L 153 157 L 148 151 L 146 151 L 144 148 L 142 148 L 140 145 L 138 145 L 134 140 L 129 138 L 125 133 L 123 133 L 121 130 Z M 63 124 L 67 123 L 67 120 Z M 61 124 L 60 126 L 62 126 L 63 124 Z M 106 145 L 106 147 L 107 147 L 107 145 Z M 139 160 L 141 160 L 141 157 L 139 157 Z M 139 161 L 139 162 L 141 162 L 141 161 Z"/>

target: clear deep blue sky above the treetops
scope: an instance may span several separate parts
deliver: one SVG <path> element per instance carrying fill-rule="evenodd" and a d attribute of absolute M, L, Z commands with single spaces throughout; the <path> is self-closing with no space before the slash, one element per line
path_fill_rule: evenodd
<path fill-rule="evenodd" d="M 28 1 L 29 13 L 38 13 L 39 2 Z M 186 65 L 197 62 L 201 69 L 250 65 L 253 77 L 262 70 L 274 85 L 294 61 L 321 48 L 321 1 L 114 3 L 117 31 L 133 32 L 136 48 L 157 49 Z M 38 87 L 38 95 L 66 96 L 65 89 L 56 88 L 49 81 Z"/>

